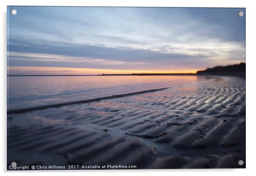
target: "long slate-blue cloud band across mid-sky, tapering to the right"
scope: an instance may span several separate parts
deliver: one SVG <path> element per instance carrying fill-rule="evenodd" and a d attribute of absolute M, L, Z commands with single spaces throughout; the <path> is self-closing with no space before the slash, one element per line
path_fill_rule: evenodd
<path fill-rule="evenodd" d="M 185 59 L 203 58 L 206 55 L 187 55 L 182 53 L 163 53 L 146 49 L 134 49 L 131 47 L 102 47 L 88 44 L 68 44 L 63 42 L 41 41 L 42 43 L 30 43 L 27 41 L 10 40 L 9 52 L 40 53 L 50 55 L 65 55 L 73 57 L 102 58 L 119 61 L 146 61 L 157 59 Z"/>

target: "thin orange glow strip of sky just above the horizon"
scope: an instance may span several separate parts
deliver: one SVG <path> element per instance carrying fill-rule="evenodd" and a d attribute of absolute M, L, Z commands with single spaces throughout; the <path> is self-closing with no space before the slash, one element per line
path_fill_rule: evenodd
<path fill-rule="evenodd" d="M 38 75 L 97 75 L 97 74 L 132 74 L 132 73 L 196 73 L 197 70 L 116 70 L 87 69 L 40 66 L 9 66 L 8 74 L 38 74 Z"/>

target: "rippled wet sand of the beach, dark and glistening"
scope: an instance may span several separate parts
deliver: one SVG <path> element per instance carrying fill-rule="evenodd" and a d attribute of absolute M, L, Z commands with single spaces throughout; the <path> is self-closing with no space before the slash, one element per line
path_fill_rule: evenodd
<path fill-rule="evenodd" d="M 245 168 L 245 79 L 8 114 L 7 165 Z"/>

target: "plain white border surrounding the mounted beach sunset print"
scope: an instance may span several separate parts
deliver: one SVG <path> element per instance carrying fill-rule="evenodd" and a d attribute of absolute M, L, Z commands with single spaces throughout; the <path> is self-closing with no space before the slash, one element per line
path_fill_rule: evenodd
<path fill-rule="evenodd" d="M 252 175 L 255 173 L 253 170 L 255 162 L 255 129 L 256 128 L 256 116 L 253 108 L 255 104 L 255 17 L 256 7 L 253 5 L 252 0 L 1 0 L 1 104 L 0 112 L 1 117 L 1 159 L 0 167 L 2 172 L 6 172 L 6 6 L 7 5 L 53 5 L 53 6 L 161 6 L 161 7 L 242 7 L 246 8 L 246 169 L 208 169 L 208 170 L 91 170 L 91 171 L 61 171 L 63 175 L 70 175 L 70 173 L 79 173 L 81 175 L 96 175 L 101 173 L 102 175 L 120 175 L 130 176 L 131 174 L 147 174 L 147 176 L 154 176 L 157 173 L 162 175 L 189 175 L 189 176 L 215 176 L 216 174 L 232 174 L 232 176 Z M 253 172 L 254 171 L 254 172 Z M 43 172 L 43 173 L 42 173 Z M 58 171 L 42 171 L 41 175 L 53 174 L 56 175 Z M 22 175 L 34 174 L 34 172 L 20 172 Z"/>

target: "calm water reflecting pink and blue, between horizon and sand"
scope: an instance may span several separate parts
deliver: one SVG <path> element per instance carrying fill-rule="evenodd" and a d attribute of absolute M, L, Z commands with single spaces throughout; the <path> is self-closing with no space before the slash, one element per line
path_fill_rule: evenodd
<path fill-rule="evenodd" d="M 9 110 L 92 99 L 204 81 L 203 76 L 12 76 Z"/>

